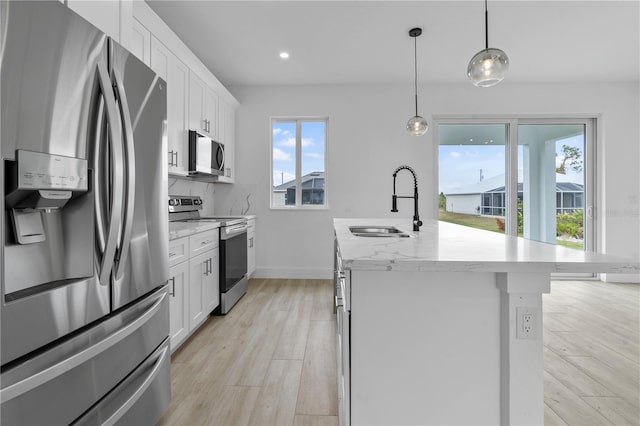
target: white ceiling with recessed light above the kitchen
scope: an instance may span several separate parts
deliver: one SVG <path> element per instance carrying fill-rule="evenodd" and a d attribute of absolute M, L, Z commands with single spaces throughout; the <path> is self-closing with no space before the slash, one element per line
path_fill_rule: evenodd
<path fill-rule="evenodd" d="M 465 82 L 484 2 L 146 0 L 227 86 Z M 639 81 L 640 0 L 489 1 L 507 81 Z M 286 50 L 291 57 L 278 57 Z"/>

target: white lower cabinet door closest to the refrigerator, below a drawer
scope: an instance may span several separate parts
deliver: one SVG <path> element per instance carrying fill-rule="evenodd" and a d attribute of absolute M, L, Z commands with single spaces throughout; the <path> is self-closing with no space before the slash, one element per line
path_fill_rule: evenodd
<path fill-rule="evenodd" d="M 171 351 L 189 334 L 189 262 L 169 268 L 169 335 Z"/>

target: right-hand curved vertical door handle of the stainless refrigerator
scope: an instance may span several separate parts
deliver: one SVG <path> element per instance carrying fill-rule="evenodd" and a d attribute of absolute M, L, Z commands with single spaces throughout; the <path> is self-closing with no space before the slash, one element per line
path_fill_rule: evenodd
<path fill-rule="evenodd" d="M 129 247 L 131 245 L 131 232 L 133 230 L 133 210 L 136 196 L 136 168 L 135 168 L 135 152 L 133 145 L 133 126 L 131 124 L 131 114 L 129 113 L 129 103 L 127 102 L 127 94 L 124 91 L 122 78 L 117 71 L 114 71 L 117 100 L 120 106 L 120 114 L 122 116 L 122 124 L 124 126 L 124 152 L 126 165 L 126 194 L 123 194 L 124 201 L 124 221 L 122 224 L 121 239 L 119 249 L 116 253 L 116 280 L 122 278 L 125 273 L 125 265 L 129 256 Z"/>

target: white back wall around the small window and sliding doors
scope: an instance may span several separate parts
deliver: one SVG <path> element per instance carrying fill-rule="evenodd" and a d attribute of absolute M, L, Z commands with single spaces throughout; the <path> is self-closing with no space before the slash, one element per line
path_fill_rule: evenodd
<path fill-rule="evenodd" d="M 240 101 L 236 121 L 235 185 L 216 185 L 216 213 L 258 215 L 257 274 L 264 277 L 331 277 L 334 217 L 391 216 L 392 173 L 412 166 L 419 179 L 420 215 L 437 209 L 430 130 L 404 131 L 413 115 L 410 86 L 232 87 Z M 421 85 L 419 112 L 432 115 L 599 115 L 604 204 L 598 215 L 607 253 L 640 258 L 639 85 L 510 84 L 490 89 L 466 81 Z M 324 211 L 269 209 L 271 116 L 329 116 L 327 194 Z M 410 175 L 398 176 L 398 194 L 411 194 Z M 410 200 L 399 200 L 409 221 Z M 610 277 L 614 279 L 616 277 Z M 617 277 L 635 279 L 637 276 Z"/>

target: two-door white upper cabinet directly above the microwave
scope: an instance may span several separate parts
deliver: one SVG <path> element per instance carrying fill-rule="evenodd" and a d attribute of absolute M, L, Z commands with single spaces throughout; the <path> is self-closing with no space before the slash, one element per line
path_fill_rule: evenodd
<path fill-rule="evenodd" d="M 189 73 L 189 125 L 218 140 L 218 95 L 193 71 Z"/>

